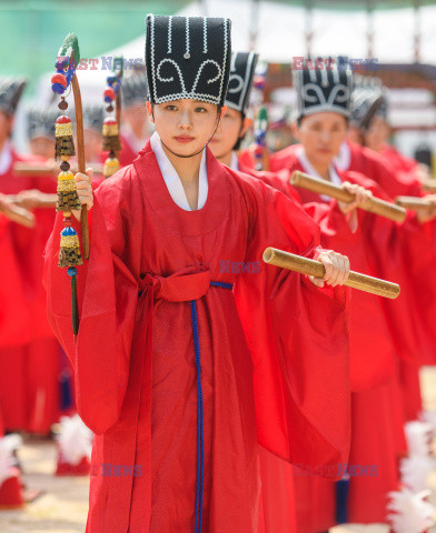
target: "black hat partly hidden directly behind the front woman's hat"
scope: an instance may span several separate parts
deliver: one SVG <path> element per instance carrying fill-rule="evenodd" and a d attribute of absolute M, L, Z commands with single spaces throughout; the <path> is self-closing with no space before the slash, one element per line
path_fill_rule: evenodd
<path fill-rule="evenodd" d="M 245 113 L 248 108 L 258 58 L 259 54 L 254 52 L 231 53 L 226 105 L 241 113 Z"/>

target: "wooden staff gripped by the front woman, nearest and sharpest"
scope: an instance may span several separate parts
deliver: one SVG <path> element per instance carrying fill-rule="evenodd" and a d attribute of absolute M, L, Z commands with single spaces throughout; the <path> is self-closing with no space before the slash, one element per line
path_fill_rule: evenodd
<path fill-rule="evenodd" d="M 319 261 L 301 258 L 294 253 L 284 252 L 276 248 L 267 248 L 264 251 L 262 259 L 268 264 L 288 269 L 300 274 L 313 275 L 314 278 L 324 278 L 326 269 Z M 350 272 L 348 280 L 345 282 L 347 286 L 358 289 L 359 291 L 370 292 L 378 296 L 390 298 L 395 300 L 399 295 L 399 285 L 389 281 L 371 278 L 370 275 Z"/>

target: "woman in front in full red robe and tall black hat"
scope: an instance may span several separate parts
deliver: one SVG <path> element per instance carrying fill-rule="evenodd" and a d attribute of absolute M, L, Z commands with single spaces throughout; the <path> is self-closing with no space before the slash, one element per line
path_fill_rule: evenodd
<path fill-rule="evenodd" d="M 93 194 L 76 177 L 92 208 L 76 339 L 60 213 L 46 253 L 50 321 L 97 434 L 87 531 L 255 532 L 258 443 L 333 476 L 346 461 L 345 293 L 260 264 L 266 245 L 316 257 L 317 227 L 205 148 L 226 111 L 229 20 L 148 16 L 146 42 L 156 134 Z M 346 258 L 319 260 L 341 284 Z M 108 463 L 140 474 L 101 475 Z"/>

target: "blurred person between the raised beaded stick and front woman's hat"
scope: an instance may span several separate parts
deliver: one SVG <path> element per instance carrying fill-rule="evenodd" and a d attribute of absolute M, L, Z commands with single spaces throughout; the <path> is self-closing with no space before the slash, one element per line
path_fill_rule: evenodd
<path fill-rule="evenodd" d="M 131 164 L 150 137 L 150 122 L 146 112 L 147 81 L 143 71 L 126 76 L 121 84 L 121 143 L 120 168 Z"/>

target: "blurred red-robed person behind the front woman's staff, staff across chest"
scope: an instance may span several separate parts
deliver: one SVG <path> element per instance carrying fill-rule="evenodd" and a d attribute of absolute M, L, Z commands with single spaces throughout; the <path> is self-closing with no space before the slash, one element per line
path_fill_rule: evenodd
<path fill-rule="evenodd" d="M 338 76 L 339 72 L 336 73 Z M 366 189 L 370 189 L 375 194 L 383 197 L 384 192 L 377 187 L 375 182 L 358 175 L 355 172 L 344 173 L 333 167 L 333 159 L 339 151 L 340 143 L 346 135 L 346 119 L 344 118 L 344 110 L 340 111 L 340 104 L 331 108 L 328 102 L 328 91 L 338 83 L 331 80 L 331 73 L 324 71 L 307 72 L 300 71 L 298 76 L 306 76 L 306 80 L 297 79 L 297 94 L 299 95 L 299 125 L 295 129 L 297 138 L 301 138 L 303 145 L 293 148 L 291 150 L 283 151 L 278 157 L 271 157 L 271 169 L 277 169 L 278 162 L 284 165 L 289 174 L 294 170 L 299 170 L 313 175 L 320 174 L 319 169 L 323 170 L 324 179 L 329 179 L 337 184 L 347 180 Z M 327 80 L 327 76 L 329 80 Z M 340 76 L 340 74 L 339 74 Z M 313 89 L 316 86 L 317 89 Z M 341 95 L 348 94 L 350 88 L 343 82 L 339 84 L 339 93 Z M 313 100 L 316 100 L 317 108 L 314 111 L 307 112 L 307 117 L 301 114 L 309 108 L 310 104 L 304 99 L 304 94 L 309 94 Z M 323 94 L 324 99 L 319 94 Z M 310 100 L 307 98 L 307 100 Z M 345 99 L 343 99 L 343 102 Z M 325 112 L 321 112 L 325 111 Z M 304 117 L 301 119 L 301 117 Z M 328 122 L 330 120 L 330 122 Z M 288 175 L 289 175 L 288 174 Z M 290 190 L 291 185 L 288 178 L 283 183 L 283 187 Z M 328 198 L 321 198 L 313 192 L 298 189 L 304 203 L 328 201 Z M 293 191 L 294 193 L 294 191 Z M 386 195 L 385 195 L 386 198 Z M 370 261 L 370 255 L 374 254 L 371 248 L 366 244 L 368 234 L 378 234 L 379 227 L 384 228 L 380 234 L 388 234 L 390 239 L 398 239 L 398 245 L 403 245 L 400 233 L 396 235 L 396 228 L 388 221 L 373 220 L 366 217 L 361 222 L 361 229 L 356 228 L 355 233 L 344 225 L 343 230 L 335 229 L 335 225 L 340 224 L 343 217 L 334 217 L 334 211 L 326 218 L 319 205 L 308 207 L 309 212 L 321 224 L 321 242 L 325 245 L 337 245 L 344 253 L 348 253 L 351 262 L 356 260 L 361 269 L 374 272 L 374 265 Z M 368 222 L 369 221 L 369 222 Z M 340 225 L 338 225 L 340 228 Z M 417 222 L 409 223 L 409 232 L 416 237 L 419 228 Z M 374 249 L 378 245 L 379 252 L 384 252 L 384 245 L 389 243 L 386 238 L 382 244 L 382 238 L 373 241 Z M 399 247 L 402 248 L 402 247 Z M 366 254 L 369 255 L 366 259 Z M 387 253 L 387 248 L 384 252 Z M 388 259 L 388 255 L 387 258 Z M 392 264 L 389 261 L 386 261 Z M 366 265 L 366 268 L 365 268 Z M 397 269 L 392 269 L 394 275 Z M 379 273 L 378 273 L 379 275 Z M 388 274 L 387 274 L 388 275 Z M 394 344 L 389 335 L 389 329 L 385 323 L 382 309 L 374 309 L 369 311 L 368 303 L 364 304 L 355 299 L 356 305 L 351 308 L 351 326 L 355 325 L 355 336 L 353 328 L 350 332 L 351 340 L 351 385 L 354 386 L 353 394 L 353 439 L 351 439 L 351 467 L 357 465 L 377 464 L 379 472 L 377 477 L 360 476 L 351 477 L 350 494 L 348 503 L 348 519 L 356 522 L 373 522 L 384 521 L 385 514 L 385 496 L 389 490 L 395 490 L 397 486 L 397 469 L 396 461 L 398 453 L 405 451 L 405 440 L 403 434 L 402 413 L 403 406 L 400 404 L 400 396 L 398 391 L 397 376 L 395 372 L 394 361 Z M 365 300 L 365 299 L 363 299 Z M 373 303 L 373 302 L 371 302 Z M 351 302 L 353 304 L 353 302 Z M 358 320 L 353 322 L 353 311 Z M 376 312 L 377 311 L 377 312 Z M 367 321 L 376 320 L 377 326 L 373 324 L 368 328 Z M 366 324 L 366 326 L 365 326 Z M 406 324 L 407 325 L 407 324 Z M 357 328 L 356 328 L 357 326 Z M 407 329 L 407 328 L 406 328 Z M 366 331 L 370 330 L 371 335 L 368 339 Z M 360 333 L 359 333 L 360 331 Z M 413 332 L 410 333 L 413 335 Z M 356 340 L 353 343 L 353 339 Z M 369 346 L 369 342 L 375 340 L 374 345 Z M 412 336 L 407 345 L 414 345 L 415 336 Z M 415 346 L 417 344 L 415 343 Z M 371 356 L 375 359 L 373 360 Z M 359 363 L 360 361 L 360 363 Z M 373 364 L 369 364 L 373 361 Z M 393 423 L 394 422 L 394 423 Z M 369 474 L 370 475 L 370 474 Z M 373 474 L 374 475 L 374 474 Z M 303 514 L 303 507 L 298 523 L 298 531 L 301 532 L 319 532 L 327 529 L 328 523 L 334 520 L 334 493 L 331 484 L 329 485 L 323 480 L 313 477 L 307 485 L 307 479 L 303 475 L 296 477 L 297 492 L 301 495 L 301 491 L 306 491 L 308 501 L 311 500 L 311 505 L 307 505 L 306 514 Z M 306 485 L 305 485 L 306 484 Z M 339 485 L 340 486 L 340 485 Z M 297 510 L 298 510 L 297 500 Z M 298 517 L 298 514 L 297 514 Z M 330 523 L 331 525 L 331 523 Z"/>

